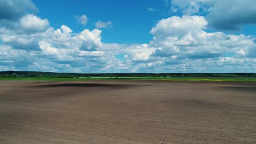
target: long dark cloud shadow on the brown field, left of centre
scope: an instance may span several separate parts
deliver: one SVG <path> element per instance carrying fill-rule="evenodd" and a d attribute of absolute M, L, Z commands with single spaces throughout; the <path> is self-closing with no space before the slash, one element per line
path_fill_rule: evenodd
<path fill-rule="evenodd" d="M 50 85 L 39 85 L 33 87 L 109 87 L 109 88 L 126 88 L 134 87 L 136 85 L 115 85 L 115 84 L 103 84 L 103 83 L 57 83 Z"/>

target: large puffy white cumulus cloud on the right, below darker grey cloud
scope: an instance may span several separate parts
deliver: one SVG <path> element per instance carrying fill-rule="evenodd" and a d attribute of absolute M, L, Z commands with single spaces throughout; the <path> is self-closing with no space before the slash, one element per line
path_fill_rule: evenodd
<path fill-rule="evenodd" d="M 207 33 L 203 16 L 169 17 L 160 20 L 150 33 L 154 57 L 177 56 L 179 59 L 224 57 L 227 53 L 247 56 L 255 44 L 253 38 L 243 34 L 226 35 L 222 32 Z"/>

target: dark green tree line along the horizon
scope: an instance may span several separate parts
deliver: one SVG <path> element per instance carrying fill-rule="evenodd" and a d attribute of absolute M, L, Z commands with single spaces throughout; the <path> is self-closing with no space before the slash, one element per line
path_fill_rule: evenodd
<path fill-rule="evenodd" d="M 42 71 L 0 71 L 0 77 L 48 77 L 48 78 L 73 78 L 73 77 L 256 77 L 256 73 L 52 73 Z"/>

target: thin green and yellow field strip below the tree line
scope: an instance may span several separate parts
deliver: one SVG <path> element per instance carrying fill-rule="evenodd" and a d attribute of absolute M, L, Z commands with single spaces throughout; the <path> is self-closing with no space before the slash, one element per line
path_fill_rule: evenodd
<path fill-rule="evenodd" d="M 252 77 L 139 77 L 139 78 L 48 78 L 48 77 L 16 77 L 0 78 L 0 80 L 43 80 L 43 81 L 86 81 L 86 80 L 164 80 L 164 81 L 256 81 Z"/>

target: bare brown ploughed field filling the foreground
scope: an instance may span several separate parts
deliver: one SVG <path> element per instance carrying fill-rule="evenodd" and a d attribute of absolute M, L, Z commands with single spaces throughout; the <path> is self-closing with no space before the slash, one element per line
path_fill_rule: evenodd
<path fill-rule="evenodd" d="M 256 83 L 0 81 L 0 143 L 256 143 Z"/>

